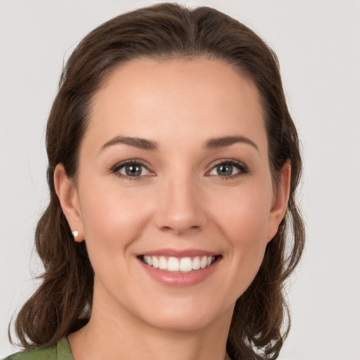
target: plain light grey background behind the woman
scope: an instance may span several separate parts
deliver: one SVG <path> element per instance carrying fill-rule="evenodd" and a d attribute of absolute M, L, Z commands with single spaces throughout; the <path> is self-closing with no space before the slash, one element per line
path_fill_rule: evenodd
<path fill-rule="evenodd" d="M 109 18 L 155 1 L 0 0 L 0 358 L 7 326 L 41 271 L 33 233 L 47 203 L 44 127 L 63 65 Z M 300 131 L 307 249 L 291 279 L 280 359 L 360 359 L 360 2 L 182 1 L 229 13 L 281 63 Z"/>

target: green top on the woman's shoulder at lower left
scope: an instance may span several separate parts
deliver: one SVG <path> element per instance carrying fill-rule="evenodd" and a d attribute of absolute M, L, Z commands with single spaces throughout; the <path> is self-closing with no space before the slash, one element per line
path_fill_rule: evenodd
<path fill-rule="evenodd" d="M 62 338 L 56 345 L 25 350 L 6 357 L 4 360 L 74 360 L 68 338 Z"/>

